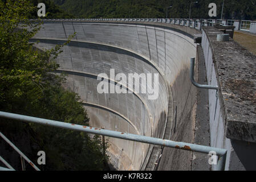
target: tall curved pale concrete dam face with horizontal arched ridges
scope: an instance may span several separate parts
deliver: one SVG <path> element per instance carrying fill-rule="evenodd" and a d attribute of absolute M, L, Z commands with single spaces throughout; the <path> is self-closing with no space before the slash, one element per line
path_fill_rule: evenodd
<path fill-rule="evenodd" d="M 64 86 L 81 97 L 91 126 L 190 142 L 192 130 L 188 125 L 192 122 L 196 88 L 189 80 L 189 67 L 190 57 L 196 57 L 197 53 L 192 28 L 182 30 L 181 26 L 153 23 L 46 22 L 31 42 L 39 40 L 36 47 L 40 49 L 53 48 L 66 42 L 74 32 L 76 36 L 64 46 L 56 61 L 60 65 L 58 72 L 68 73 Z M 159 88 L 159 97 L 148 99 L 152 96 L 148 85 L 144 88 L 145 94 L 98 93 L 100 73 L 108 76 L 105 80 L 109 86 L 117 84 L 110 77 L 110 69 L 127 77 L 129 73 L 159 74 L 159 82 L 153 82 L 153 87 Z M 131 91 L 133 86 L 127 84 L 122 88 Z M 157 158 L 154 147 L 149 144 L 114 138 L 109 138 L 109 144 L 111 163 L 120 170 L 144 170 Z M 165 154 L 166 162 L 178 159 L 173 152 Z"/>

